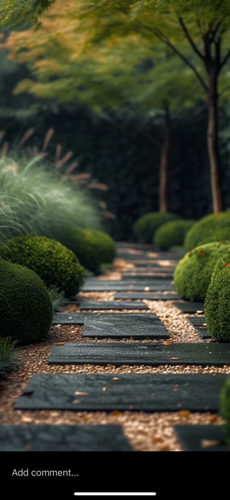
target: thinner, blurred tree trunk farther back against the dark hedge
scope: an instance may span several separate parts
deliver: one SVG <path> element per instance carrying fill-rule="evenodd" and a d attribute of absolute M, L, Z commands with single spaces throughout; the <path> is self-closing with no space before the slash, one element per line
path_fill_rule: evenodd
<path fill-rule="evenodd" d="M 166 213 L 168 211 L 167 171 L 168 171 L 170 141 L 171 141 L 171 119 L 169 113 L 167 112 L 165 116 L 164 139 L 161 147 L 161 157 L 160 157 L 160 185 L 159 185 L 160 213 Z"/>

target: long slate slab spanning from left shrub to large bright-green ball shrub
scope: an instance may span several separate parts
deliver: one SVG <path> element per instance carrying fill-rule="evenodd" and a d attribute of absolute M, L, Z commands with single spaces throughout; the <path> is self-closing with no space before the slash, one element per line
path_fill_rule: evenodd
<path fill-rule="evenodd" d="M 148 290 L 146 290 L 146 287 Z M 88 281 L 86 280 L 82 291 L 170 291 L 174 290 L 171 281 L 165 280 L 126 280 L 126 281 Z"/>

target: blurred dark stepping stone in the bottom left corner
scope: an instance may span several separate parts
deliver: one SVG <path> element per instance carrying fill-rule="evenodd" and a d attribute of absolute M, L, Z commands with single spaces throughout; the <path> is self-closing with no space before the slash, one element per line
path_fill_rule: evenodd
<path fill-rule="evenodd" d="M 131 451 L 120 425 L 0 425 L 0 451 Z"/>

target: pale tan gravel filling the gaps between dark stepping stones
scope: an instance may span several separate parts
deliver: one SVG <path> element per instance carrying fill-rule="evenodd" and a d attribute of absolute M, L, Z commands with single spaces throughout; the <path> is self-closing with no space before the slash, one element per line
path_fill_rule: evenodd
<path fill-rule="evenodd" d="M 130 253 L 139 253 L 130 250 Z M 153 255 L 152 255 L 153 256 Z M 168 263 L 169 262 L 169 263 Z M 163 265 L 171 265 L 169 261 L 161 261 Z M 115 273 L 108 272 L 104 279 L 117 279 L 117 271 L 133 268 L 121 259 L 115 261 Z M 173 295 L 173 294 L 172 294 Z M 113 300 L 114 292 L 85 292 L 81 297 L 93 300 Z M 150 309 L 140 311 L 143 313 L 155 312 L 166 325 L 172 341 L 176 342 L 204 342 L 186 316 L 172 304 L 172 301 L 145 301 Z M 75 304 L 68 304 L 66 311 L 78 311 Z M 100 311 L 103 312 L 103 311 Z M 105 311 L 110 312 L 110 311 Z M 122 314 L 125 311 L 114 311 Z M 127 310 L 126 312 L 137 312 Z M 55 325 L 52 334 L 41 343 L 20 346 L 17 352 L 21 359 L 16 371 L 6 381 L 1 383 L 1 423 L 52 423 L 52 424 L 120 424 L 134 451 L 182 451 L 182 447 L 172 428 L 175 424 L 220 424 L 220 416 L 211 413 L 191 413 L 188 410 L 177 412 L 145 413 L 131 411 L 106 412 L 75 412 L 75 411 L 21 411 L 13 410 L 13 404 L 20 396 L 33 373 L 229 373 L 230 367 L 202 367 L 202 366 L 118 366 L 114 365 L 47 365 L 47 357 L 52 346 L 56 342 L 81 341 L 97 342 L 97 339 L 83 339 L 83 328 L 79 325 Z M 108 342 L 110 339 L 102 339 L 100 342 Z M 115 340 L 112 340 L 113 342 Z M 117 342 L 130 342 L 133 339 L 121 339 Z M 136 340 L 137 341 L 137 340 Z M 138 340 L 138 342 L 158 342 L 158 340 Z M 207 340 L 206 340 L 207 342 Z"/>

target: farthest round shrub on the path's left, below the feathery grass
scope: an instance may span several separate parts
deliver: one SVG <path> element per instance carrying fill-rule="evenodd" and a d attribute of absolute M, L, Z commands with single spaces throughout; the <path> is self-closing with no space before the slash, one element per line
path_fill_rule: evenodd
<path fill-rule="evenodd" d="M 113 239 L 102 231 L 76 227 L 66 235 L 65 243 L 78 256 L 84 267 L 95 273 L 101 264 L 110 262 L 115 256 Z"/>

